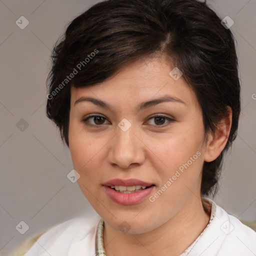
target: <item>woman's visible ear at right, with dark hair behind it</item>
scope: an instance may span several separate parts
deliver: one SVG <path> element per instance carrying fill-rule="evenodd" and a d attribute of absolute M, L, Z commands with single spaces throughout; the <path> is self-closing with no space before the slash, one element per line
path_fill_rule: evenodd
<path fill-rule="evenodd" d="M 232 124 L 232 110 L 230 106 L 227 106 L 227 109 L 228 115 L 222 118 L 214 134 L 208 134 L 208 141 L 204 153 L 204 161 L 206 162 L 215 160 L 224 149 L 227 142 Z"/>

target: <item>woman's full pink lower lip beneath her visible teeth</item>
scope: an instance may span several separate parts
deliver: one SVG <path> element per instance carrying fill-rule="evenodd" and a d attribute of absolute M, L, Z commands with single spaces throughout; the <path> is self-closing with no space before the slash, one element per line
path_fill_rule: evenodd
<path fill-rule="evenodd" d="M 130 204 L 136 204 L 143 201 L 154 189 L 154 186 L 152 185 L 138 192 L 125 193 L 125 194 L 117 192 L 108 186 L 104 186 L 104 188 L 106 189 L 106 193 L 108 194 L 108 196 L 114 202 L 122 205 L 130 205 Z"/>

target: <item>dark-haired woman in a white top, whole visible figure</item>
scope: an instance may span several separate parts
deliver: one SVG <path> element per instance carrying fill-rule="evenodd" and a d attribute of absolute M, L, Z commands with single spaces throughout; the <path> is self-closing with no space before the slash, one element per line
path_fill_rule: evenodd
<path fill-rule="evenodd" d="M 256 232 L 203 197 L 239 113 L 233 36 L 206 3 L 93 5 L 53 50 L 47 116 L 98 215 L 50 228 L 24 255 L 255 255 Z"/>

